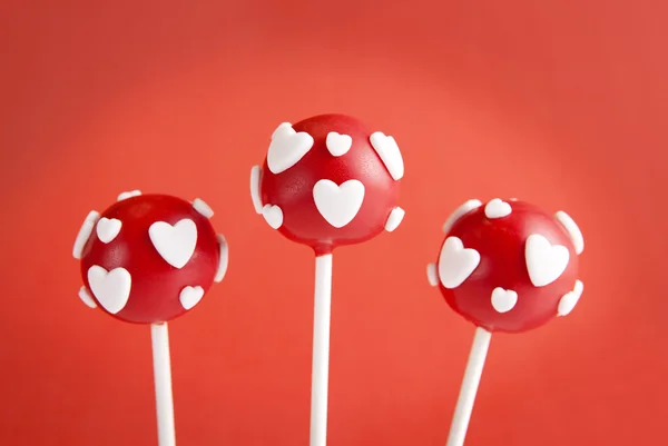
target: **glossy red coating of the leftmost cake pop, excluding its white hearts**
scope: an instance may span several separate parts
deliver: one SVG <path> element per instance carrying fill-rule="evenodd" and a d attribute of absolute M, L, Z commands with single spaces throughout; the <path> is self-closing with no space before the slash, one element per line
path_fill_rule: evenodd
<path fill-rule="evenodd" d="M 81 257 L 81 277 L 90 295 L 88 269 L 98 265 L 112 270 L 122 267 L 131 275 L 131 290 L 126 306 L 111 315 L 120 320 L 153 324 L 175 319 L 186 313 L 179 300 L 186 286 L 212 286 L 219 260 L 216 232 L 208 218 L 190 202 L 166 195 L 143 195 L 116 202 L 101 217 L 122 222 L 120 232 L 104 244 L 94 230 Z M 190 219 L 197 227 L 197 245 L 188 262 L 180 269 L 169 265 L 158 254 L 149 237 L 156 221 L 170 225 Z M 99 305 L 98 307 L 102 308 Z M 104 308 L 102 308 L 104 309 Z"/>

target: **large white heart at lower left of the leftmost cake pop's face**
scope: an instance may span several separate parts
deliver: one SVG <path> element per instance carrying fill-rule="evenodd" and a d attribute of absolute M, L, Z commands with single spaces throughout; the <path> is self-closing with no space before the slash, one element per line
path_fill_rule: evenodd
<path fill-rule="evenodd" d="M 130 298 L 132 277 L 125 268 L 107 271 L 94 265 L 88 268 L 88 285 L 102 308 L 115 315 L 125 308 Z"/>

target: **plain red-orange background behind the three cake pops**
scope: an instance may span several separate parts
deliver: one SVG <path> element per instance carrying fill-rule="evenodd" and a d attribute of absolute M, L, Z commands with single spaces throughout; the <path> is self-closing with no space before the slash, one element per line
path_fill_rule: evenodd
<path fill-rule="evenodd" d="M 230 266 L 171 325 L 179 445 L 306 445 L 313 256 L 254 214 L 275 126 L 403 149 L 406 218 L 334 258 L 330 445 L 443 445 L 473 327 L 424 274 L 471 197 L 584 231 L 568 317 L 495 336 L 466 446 L 668 443 L 662 1 L 2 4 L 0 444 L 153 445 L 147 327 L 81 304 L 71 246 L 139 188 L 202 197 Z"/>

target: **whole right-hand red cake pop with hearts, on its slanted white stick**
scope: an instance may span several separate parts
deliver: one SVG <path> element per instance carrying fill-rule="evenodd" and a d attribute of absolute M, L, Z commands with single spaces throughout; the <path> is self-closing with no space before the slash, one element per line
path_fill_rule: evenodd
<path fill-rule="evenodd" d="M 522 333 L 568 315 L 582 295 L 584 242 L 566 212 L 551 216 L 514 199 L 469 200 L 443 229 L 429 281 L 478 327 L 448 438 L 448 446 L 462 446 L 492 333 Z"/>

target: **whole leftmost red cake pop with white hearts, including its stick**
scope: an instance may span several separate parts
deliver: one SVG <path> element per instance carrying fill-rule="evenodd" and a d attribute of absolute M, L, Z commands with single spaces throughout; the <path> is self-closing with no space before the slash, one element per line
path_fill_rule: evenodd
<path fill-rule="evenodd" d="M 227 269 L 227 242 L 213 210 L 166 195 L 124 192 L 101 215 L 91 211 L 75 241 L 91 308 L 151 327 L 158 444 L 176 444 L 167 321 L 193 309 Z"/>

